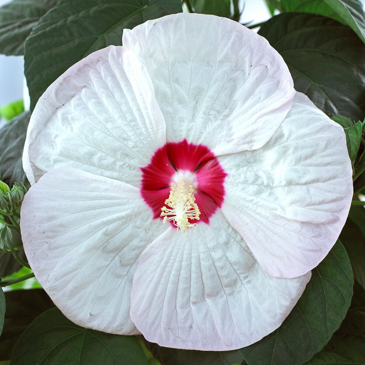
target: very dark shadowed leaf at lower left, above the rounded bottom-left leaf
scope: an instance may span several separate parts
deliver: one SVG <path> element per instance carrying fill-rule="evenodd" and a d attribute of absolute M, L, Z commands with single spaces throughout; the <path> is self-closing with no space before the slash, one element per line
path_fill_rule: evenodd
<path fill-rule="evenodd" d="M 7 310 L 0 336 L 0 360 L 9 360 L 20 335 L 30 323 L 54 304 L 43 289 L 5 292 Z"/>

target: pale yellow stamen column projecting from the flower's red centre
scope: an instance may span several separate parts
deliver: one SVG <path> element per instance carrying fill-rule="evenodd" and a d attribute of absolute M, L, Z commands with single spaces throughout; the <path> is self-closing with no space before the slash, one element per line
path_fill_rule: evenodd
<path fill-rule="evenodd" d="M 190 227 L 196 226 L 196 223 L 189 221 L 199 220 L 200 211 L 195 203 L 193 195 L 193 185 L 190 183 L 186 188 L 185 181 L 180 184 L 172 184 L 168 199 L 165 200 L 165 207 L 161 208 L 161 217 L 164 217 L 164 223 L 173 221 L 177 230 L 187 232 Z"/>

